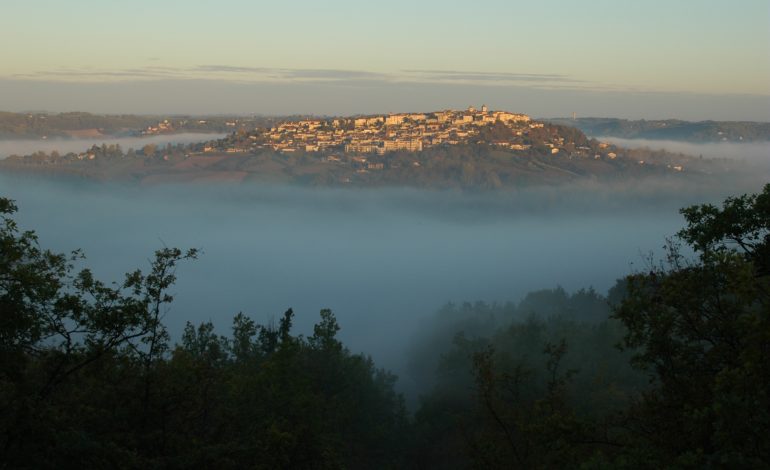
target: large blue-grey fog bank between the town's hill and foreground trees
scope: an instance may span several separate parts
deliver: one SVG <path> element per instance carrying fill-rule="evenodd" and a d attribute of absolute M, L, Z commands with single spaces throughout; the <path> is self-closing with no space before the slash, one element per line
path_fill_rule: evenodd
<path fill-rule="evenodd" d="M 679 207 L 726 191 L 665 181 L 488 194 L 140 188 L 0 175 L 20 226 L 44 247 L 82 248 L 103 280 L 146 268 L 164 245 L 202 249 L 178 270 L 166 320 L 175 338 L 186 321 L 224 331 L 238 312 L 266 322 L 289 307 L 307 333 L 328 307 L 346 345 L 397 372 L 420 318 L 445 302 L 515 301 L 556 285 L 606 291 L 660 253 L 682 226 Z"/>

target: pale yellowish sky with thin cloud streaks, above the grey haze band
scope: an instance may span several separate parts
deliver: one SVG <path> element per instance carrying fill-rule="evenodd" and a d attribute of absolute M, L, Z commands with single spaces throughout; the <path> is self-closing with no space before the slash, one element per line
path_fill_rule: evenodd
<path fill-rule="evenodd" d="M 0 78 L 6 79 L 770 95 L 763 0 L 740 8 L 662 0 L 654 6 L 494 0 L 483 8 L 400 0 L 187 2 L 184 8 L 137 0 L 108 9 L 79 0 L 42 9 L 36 2 L 5 3 L 0 40 L 8 47 Z M 173 69 L 150 67 L 159 65 Z"/>

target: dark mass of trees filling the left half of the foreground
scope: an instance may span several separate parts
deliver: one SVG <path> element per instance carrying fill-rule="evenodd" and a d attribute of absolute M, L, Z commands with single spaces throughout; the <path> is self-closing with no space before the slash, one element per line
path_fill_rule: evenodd
<path fill-rule="evenodd" d="M 105 285 L 80 253 L 39 248 L 0 199 L 0 446 L 8 467 L 398 467 L 406 415 L 395 376 L 336 339 L 239 314 L 232 336 L 163 324 L 178 263 Z"/>

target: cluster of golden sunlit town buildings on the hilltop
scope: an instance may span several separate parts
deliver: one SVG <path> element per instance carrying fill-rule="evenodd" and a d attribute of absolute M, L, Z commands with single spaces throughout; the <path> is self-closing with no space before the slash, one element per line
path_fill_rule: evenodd
<path fill-rule="evenodd" d="M 295 119 L 253 131 L 239 129 L 194 154 L 319 154 L 324 161 L 364 162 L 394 152 L 418 153 L 448 146 L 483 145 L 520 156 L 614 159 L 607 144 L 573 128 L 554 126 L 526 114 L 490 111 L 486 105 L 465 110 L 398 113 L 330 119 Z M 379 159 L 382 160 L 382 159 Z M 373 164 L 378 169 L 379 164 Z"/>

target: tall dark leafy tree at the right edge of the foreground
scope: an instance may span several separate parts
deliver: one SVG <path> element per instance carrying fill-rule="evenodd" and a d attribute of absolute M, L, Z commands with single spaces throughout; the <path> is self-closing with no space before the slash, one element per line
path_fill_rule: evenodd
<path fill-rule="evenodd" d="M 683 209 L 679 235 L 698 259 L 674 244 L 664 265 L 626 279 L 615 317 L 654 384 L 628 414 L 648 463 L 770 465 L 769 203 L 767 185 Z"/>

